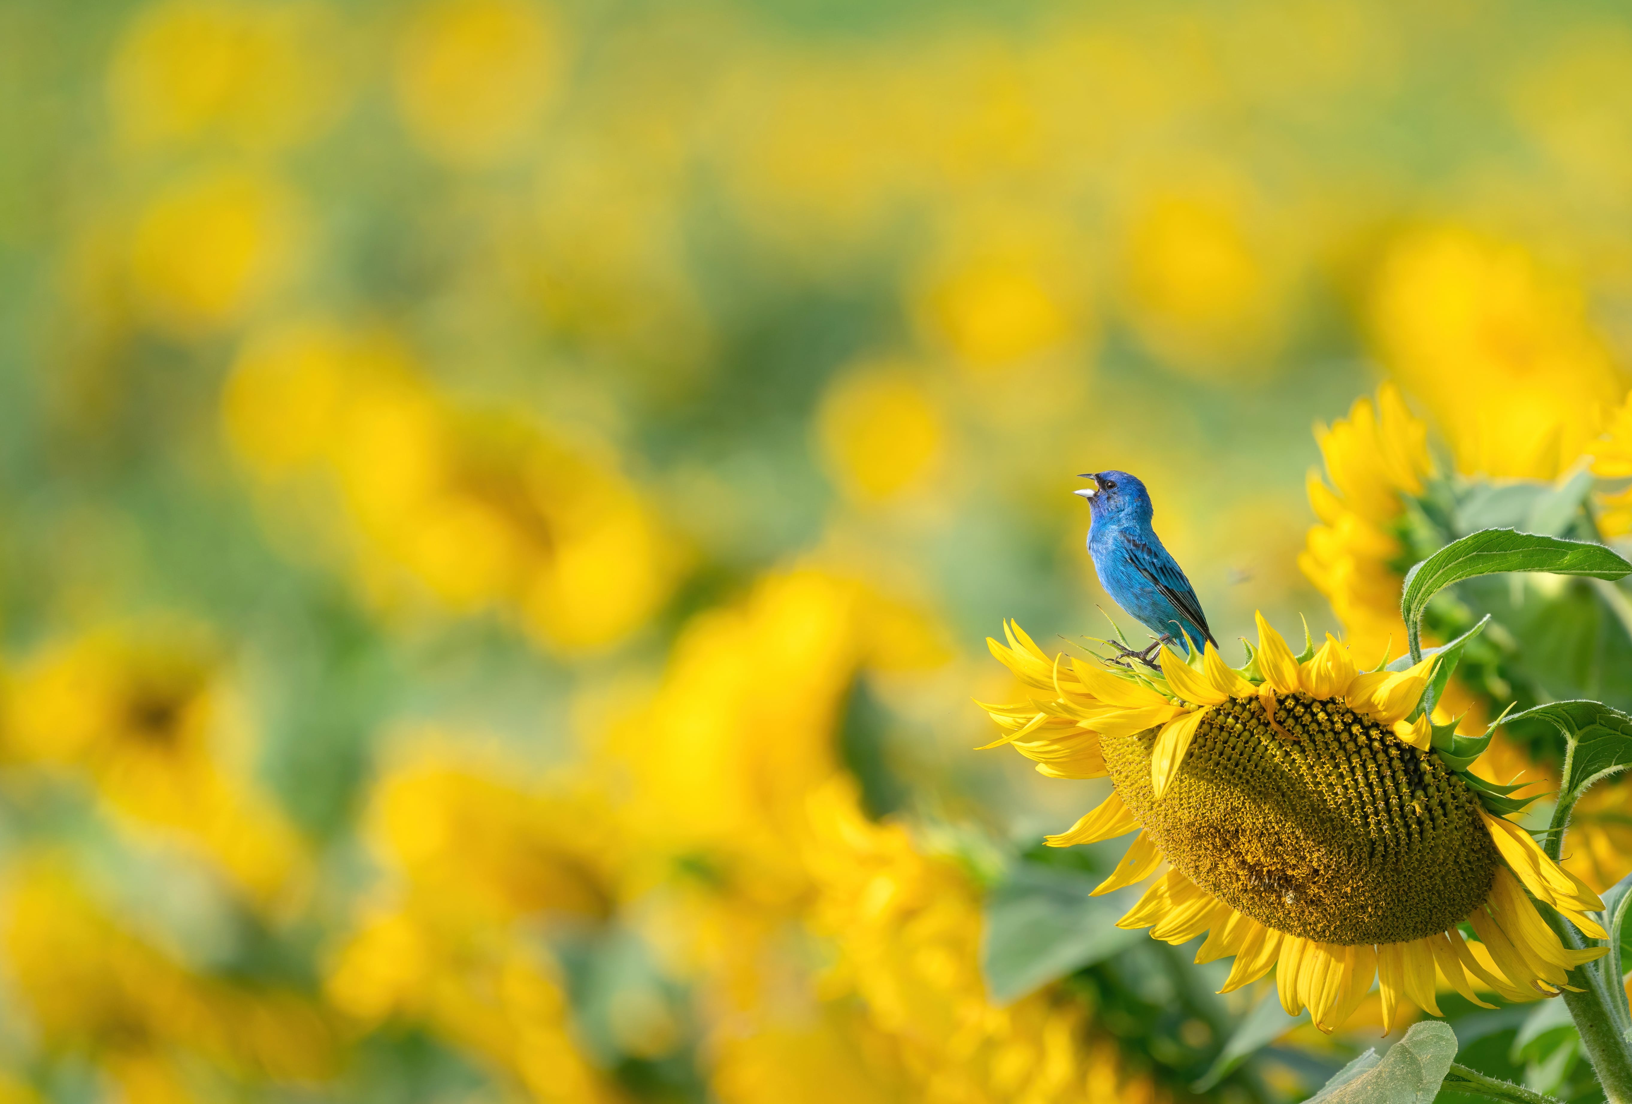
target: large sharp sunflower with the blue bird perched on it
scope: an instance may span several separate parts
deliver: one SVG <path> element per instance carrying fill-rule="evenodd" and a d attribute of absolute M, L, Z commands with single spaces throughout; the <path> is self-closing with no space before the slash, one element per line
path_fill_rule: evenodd
<path fill-rule="evenodd" d="M 1418 715 L 1433 658 L 1358 671 L 1330 635 L 1296 657 L 1262 614 L 1240 670 L 1211 645 L 1195 663 L 1164 648 L 1160 674 L 1141 674 L 1005 635 L 992 653 L 1030 694 L 984 706 L 1007 730 L 987 746 L 1051 777 L 1110 776 L 1105 804 L 1048 843 L 1138 831 L 1095 893 L 1160 872 L 1118 926 L 1170 944 L 1209 933 L 1196 962 L 1235 957 L 1221 991 L 1273 968 L 1286 1013 L 1307 1006 L 1332 1032 L 1376 977 L 1389 1031 L 1407 1001 L 1438 1016 L 1439 980 L 1492 1008 L 1475 988 L 1555 996 L 1604 954 L 1565 947 L 1526 890 L 1603 939 L 1598 895 L 1487 808 L 1501 802 L 1467 759 L 1435 750 Z"/>

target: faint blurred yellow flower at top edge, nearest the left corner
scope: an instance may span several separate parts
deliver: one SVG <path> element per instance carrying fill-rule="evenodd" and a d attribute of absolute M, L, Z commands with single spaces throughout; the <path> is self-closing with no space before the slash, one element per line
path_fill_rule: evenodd
<path fill-rule="evenodd" d="M 222 134 L 246 147 L 317 136 L 343 103 L 338 18 L 326 5 L 166 0 L 126 29 L 108 78 L 132 145 Z"/>

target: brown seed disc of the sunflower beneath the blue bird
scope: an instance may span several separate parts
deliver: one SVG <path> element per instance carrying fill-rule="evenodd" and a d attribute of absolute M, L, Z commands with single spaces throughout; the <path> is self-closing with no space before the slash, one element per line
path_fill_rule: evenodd
<path fill-rule="evenodd" d="M 1100 741 L 1116 792 L 1162 854 L 1232 908 L 1322 942 L 1444 931 L 1490 895 L 1479 802 L 1436 756 L 1342 699 L 1209 706 L 1157 800 L 1157 733 Z"/>

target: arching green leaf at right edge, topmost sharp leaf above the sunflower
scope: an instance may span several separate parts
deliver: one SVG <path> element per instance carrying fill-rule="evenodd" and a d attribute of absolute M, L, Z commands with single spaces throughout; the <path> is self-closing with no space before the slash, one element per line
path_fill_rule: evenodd
<path fill-rule="evenodd" d="M 1405 619 L 1413 661 L 1421 658 L 1417 642 L 1428 599 L 1464 578 L 1500 572 L 1552 572 L 1616 580 L 1632 575 L 1632 563 L 1603 544 L 1516 529 L 1480 529 L 1452 541 L 1405 575 L 1400 616 Z"/>

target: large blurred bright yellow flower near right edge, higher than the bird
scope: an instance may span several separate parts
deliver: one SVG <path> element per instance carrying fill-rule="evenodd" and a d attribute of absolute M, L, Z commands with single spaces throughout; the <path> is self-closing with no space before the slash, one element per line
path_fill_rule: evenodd
<path fill-rule="evenodd" d="M 1554 479 L 1627 390 L 1581 289 L 1518 245 L 1436 229 L 1395 242 L 1371 292 L 1379 354 L 1456 469 Z"/>

